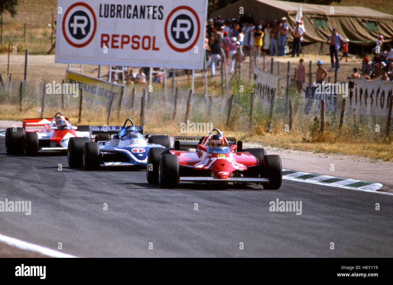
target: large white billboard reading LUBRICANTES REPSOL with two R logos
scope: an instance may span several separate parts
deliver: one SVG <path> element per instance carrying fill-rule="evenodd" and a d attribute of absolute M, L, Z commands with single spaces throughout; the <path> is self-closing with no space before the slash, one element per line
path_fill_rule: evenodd
<path fill-rule="evenodd" d="M 202 69 L 208 0 L 58 0 L 55 62 Z"/>

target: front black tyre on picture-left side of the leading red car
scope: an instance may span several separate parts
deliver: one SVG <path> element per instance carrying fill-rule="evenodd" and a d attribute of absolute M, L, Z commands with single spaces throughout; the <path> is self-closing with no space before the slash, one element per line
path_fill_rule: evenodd
<path fill-rule="evenodd" d="M 161 188 L 174 188 L 179 183 L 179 160 L 176 155 L 161 155 L 158 169 L 158 184 Z"/>

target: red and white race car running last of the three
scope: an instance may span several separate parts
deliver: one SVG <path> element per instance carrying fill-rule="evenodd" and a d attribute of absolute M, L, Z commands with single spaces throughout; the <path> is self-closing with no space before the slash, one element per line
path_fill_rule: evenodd
<path fill-rule="evenodd" d="M 7 128 L 7 153 L 35 155 L 39 150 L 66 152 L 70 138 L 82 137 L 84 142 L 88 142 L 92 140 L 94 134 L 90 126 L 72 126 L 62 113 L 56 113 L 54 118 L 23 119 L 22 126 L 23 128 Z M 26 129 L 38 126 L 43 128 Z M 110 135 L 108 133 L 97 135 L 96 140 L 110 140 Z"/>

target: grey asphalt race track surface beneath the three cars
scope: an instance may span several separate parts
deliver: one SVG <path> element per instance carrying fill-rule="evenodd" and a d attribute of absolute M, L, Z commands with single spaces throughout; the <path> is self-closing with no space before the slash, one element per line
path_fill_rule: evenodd
<path fill-rule="evenodd" d="M 10 156 L 0 137 L 6 198 L 32 210 L 0 212 L 1 234 L 54 250 L 61 242 L 80 257 L 393 257 L 392 195 L 288 180 L 279 190 L 162 190 L 145 171 L 70 169 L 57 152 Z M 302 214 L 270 212 L 276 199 L 302 201 Z"/>

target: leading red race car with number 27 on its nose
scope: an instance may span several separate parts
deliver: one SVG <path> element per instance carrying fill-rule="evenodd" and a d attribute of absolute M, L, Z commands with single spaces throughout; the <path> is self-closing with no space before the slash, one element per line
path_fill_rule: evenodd
<path fill-rule="evenodd" d="M 215 133 L 215 134 L 213 134 Z M 195 148 L 190 152 L 189 148 Z M 281 159 L 263 148 L 242 149 L 242 142 L 213 129 L 205 137 L 174 137 L 172 149 L 151 148 L 147 156 L 147 181 L 161 188 L 180 182 L 249 183 L 279 189 Z"/>

